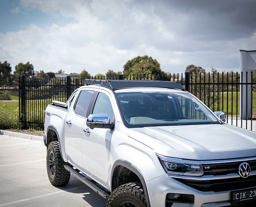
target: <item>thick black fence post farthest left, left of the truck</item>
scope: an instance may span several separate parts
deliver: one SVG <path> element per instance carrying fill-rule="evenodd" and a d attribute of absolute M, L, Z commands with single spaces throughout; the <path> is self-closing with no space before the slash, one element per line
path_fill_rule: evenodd
<path fill-rule="evenodd" d="M 22 129 L 27 129 L 26 119 L 26 77 L 25 75 L 20 76 L 20 94 L 21 94 L 21 124 Z"/>

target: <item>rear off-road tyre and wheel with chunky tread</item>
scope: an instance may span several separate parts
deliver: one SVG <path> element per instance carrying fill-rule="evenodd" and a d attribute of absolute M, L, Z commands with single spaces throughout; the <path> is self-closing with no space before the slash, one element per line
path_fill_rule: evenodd
<path fill-rule="evenodd" d="M 65 186 L 69 182 L 70 172 L 64 168 L 65 162 L 60 154 L 59 142 L 50 142 L 47 147 L 46 168 L 53 186 Z"/>

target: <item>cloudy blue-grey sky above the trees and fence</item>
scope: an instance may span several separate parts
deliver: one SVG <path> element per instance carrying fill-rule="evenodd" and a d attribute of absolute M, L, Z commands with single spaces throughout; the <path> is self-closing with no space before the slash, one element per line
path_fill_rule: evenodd
<path fill-rule="evenodd" d="M 256 0 L 0 0 L 0 61 L 35 71 L 105 74 L 138 55 L 240 71 L 256 50 Z"/>

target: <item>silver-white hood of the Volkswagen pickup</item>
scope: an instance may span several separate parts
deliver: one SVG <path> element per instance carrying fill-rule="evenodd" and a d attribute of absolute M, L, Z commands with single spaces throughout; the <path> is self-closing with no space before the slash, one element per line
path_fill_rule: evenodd
<path fill-rule="evenodd" d="M 128 136 L 168 157 L 220 160 L 256 156 L 256 133 L 227 124 L 132 128 Z"/>

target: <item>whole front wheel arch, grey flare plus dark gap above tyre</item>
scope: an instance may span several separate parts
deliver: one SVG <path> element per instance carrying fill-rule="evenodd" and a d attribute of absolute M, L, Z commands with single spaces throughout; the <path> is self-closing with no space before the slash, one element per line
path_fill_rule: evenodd
<path fill-rule="evenodd" d="M 128 161 L 116 160 L 116 162 L 113 164 L 111 172 L 111 191 L 116 189 L 116 187 L 121 186 L 122 184 L 126 184 L 132 181 L 138 181 L 142 184 L 145 197 L 147 199 L 147 206 L 150 207 L 147 186 L 141 172 L 132 166 L 132 164 Z"/>

